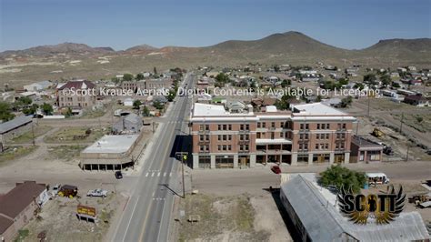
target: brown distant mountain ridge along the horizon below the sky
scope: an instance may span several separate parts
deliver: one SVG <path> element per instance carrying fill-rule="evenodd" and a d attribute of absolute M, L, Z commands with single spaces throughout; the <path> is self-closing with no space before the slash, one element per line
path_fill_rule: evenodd
<path fill-rule="evenodd" d="M 347 50 L 327 45 L 300 32 L 289 31 L 268 35 L 257 40 L 229 40 L 205 47 L 165 46 L 156 48 L 151 45 L 136 45 L 122 51 L 111 47 L 91 47 L 85 44 L 63 43 L 59 45 L 42 45 L 25 50 L 5 51 L 0 58 L 11 55 L 49 57 L 65 55 L 143 55 L 151 58 L 165 58 L 173 63 L 215 64 L 244 63 L 247 61 L 311 61 L 350 60 L 381 62 L 387 58 L 396 58 L 396 63 L 420 60 L 431 63 L 431 39 L 387 39 L 360 50 Z M 391 63 L 394 63 L 391 60 Z"/>

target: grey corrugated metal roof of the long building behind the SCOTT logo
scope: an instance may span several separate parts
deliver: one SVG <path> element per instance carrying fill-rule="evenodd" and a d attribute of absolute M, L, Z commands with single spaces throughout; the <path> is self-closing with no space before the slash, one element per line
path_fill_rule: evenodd
<path fill-rule="evenodd" d="M 339 241 L 350 235 L 361 241 L 410 241 L 429 238 L 417 212 L 401 213 L 388 225 L 356 225 L 343 217 L 318 188 L 298 175 L 282 185 L 282 192 L 312 240 Z"/>

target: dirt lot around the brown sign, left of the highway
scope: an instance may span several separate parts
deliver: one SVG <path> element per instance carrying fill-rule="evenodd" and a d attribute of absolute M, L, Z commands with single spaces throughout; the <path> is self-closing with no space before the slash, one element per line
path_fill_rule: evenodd
<path fill-rule="evenodd" d="M 82 191 L 85 196 L 86 191 Z M 42 208 L 38 218 L 34 218 L 23 230 L 28 229 L 28 241 L 36 241 L 37 235 L 45 231 L 46 241 L 102 241 L 109 227 L 115 210 L 119 208 L 120 200 L 113 193 L 105 198 L 55 197 Z M 97 222 L 85 222 L 75 216 L 78 204 L 95 207 Z M 27 240 L 26 239 L 26 240 Z"/>

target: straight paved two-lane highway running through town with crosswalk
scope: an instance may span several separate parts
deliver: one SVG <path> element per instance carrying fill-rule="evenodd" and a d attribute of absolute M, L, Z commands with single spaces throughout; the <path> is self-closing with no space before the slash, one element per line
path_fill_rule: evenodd
<path fill-rule="evenodd" d="M 183 85 L 193 86 L 195 75 L 187 74 Z M 166 241 L 169 234 L 171 211 L 175 193 L 182 194 L 180 164 L 171 156 L 175 136 L 184 135 L 185 118 L 192 100 L 177 96 L 165 115 L 162 132 L 154 137 L 141 174 L 137 178 L 133 194 L 129 198 L 112 241 Z M 145 156 L 144 156 L 145 157 Z M 175 192 L 174 192 L 175 191 Z"/>

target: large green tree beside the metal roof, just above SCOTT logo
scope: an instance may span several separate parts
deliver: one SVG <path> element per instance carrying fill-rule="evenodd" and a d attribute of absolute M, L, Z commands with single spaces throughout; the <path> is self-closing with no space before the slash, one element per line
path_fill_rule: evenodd
<path fill-rule="evenodd" d="M 328 167 L 320 175 L 319 181 L 323 186 L 336 186 L 338 190 L 341 187 L 352 187 L 353 192 L 358 193 L 366 184 L 366 175 L 363 172 L 349 170 L 340 165 Z"/>

